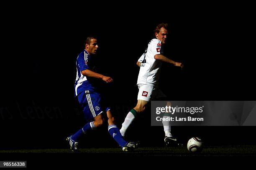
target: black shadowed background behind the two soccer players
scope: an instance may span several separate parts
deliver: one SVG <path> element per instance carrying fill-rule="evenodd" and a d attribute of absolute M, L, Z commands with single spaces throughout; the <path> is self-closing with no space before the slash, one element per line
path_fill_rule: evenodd
<path fill-rule="evenodd" d="M 166 56 L 185 65 L 184 70 L 162 67 L 160 88 L 171 100 L 255 100 L 250 10 L 172 8 L 169 13 L 150 8 L 155 12 L 149 13 L 132 5 L 100 11 L 85 10 L 84 4 L 12 6 L 12 15 L 5 13 L 2 20 L 0 148 L 68 148 L 64 139 L 84 125 L 74 81 L 76 58 L 88 35 L 97 36 L 100 45 L 98 71 L 114 79 L 100 87 L 119 128 L 136 104 L 136 61 L 162 22 L 169 24 Z M 238 145 L 255 144 L 255 130 L 173 127 L 173 134 L 183 142 L 200 136 L 206 145 Z M 164 131 L 150 126 L 149 110 L 126 135 L 144 146 L 163 145 Z M 118 147 L 107 126 L 80 145 Z"/>

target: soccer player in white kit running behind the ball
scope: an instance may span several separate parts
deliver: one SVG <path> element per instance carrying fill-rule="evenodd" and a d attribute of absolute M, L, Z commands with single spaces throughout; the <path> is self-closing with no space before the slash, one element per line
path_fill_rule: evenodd
<path fill-rule="evenodd" d="M 138 59 L 137 65 L 140 67 L 140 72 L 138 75 L 137 85 L 139 88 L 138 92 L 138 102 L 136 107 L 134 107 L 130 112 L 128 112 L 125 120 L 120 129 L 122 136 L 125 136 L 125 132 L 129 125 L 131 125 L 133 119 L 138 113 L 141 113 L 145 110 L 146 104 L 150 100 L 155 98 L 166 97 L 161 90 L 158 89 L 158 80 L 162 62 L 167 62 L 173 64 L 177 67 L 183 67 L 181 62 L 174 62 L 173 60 L 165 57 L 163 55 L 163 47 L 166 43 L 167 38 L 167 24 L 161 23 L 156 26 L 155 37 L 148 43 L 146 51 Z M 168 104 L 167 104 L 168 105 Z M 164 141 L 166 145 L 168 143 L 177 142 L 177 139 L 174 138 L 171 134 L 171 125 L 164 123 L 164 132 L 165 138 Z"/>

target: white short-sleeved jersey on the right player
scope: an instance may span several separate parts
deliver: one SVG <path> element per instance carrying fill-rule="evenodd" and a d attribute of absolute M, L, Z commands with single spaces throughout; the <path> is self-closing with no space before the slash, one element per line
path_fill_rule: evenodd
<path fill-rule="evenodd" d="M 141 68 L 138 75 L 138 84 L 158 86 L 160 68 L 162 62 L 154 59 L 154 55 L 162 54 L 161 41 L 152 39 L 143 55 L 138 59 L 141 62 Z"/>

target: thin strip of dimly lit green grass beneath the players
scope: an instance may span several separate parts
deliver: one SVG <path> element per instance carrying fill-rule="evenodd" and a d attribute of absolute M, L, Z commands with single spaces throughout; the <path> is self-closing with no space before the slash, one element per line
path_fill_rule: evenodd
<path fill-rule="evenodd" d="M 255 155 L 256 145 L 236 145 L 236 146 L 205 146 L 201 153 L 189 153 L 186 147 L 151 147 L 151 148 L 136 148 L 131 152 L 123 152 L 121 148 L 80 148 L 80 153 L 84 154 L 120 154 L 120 155 L 143 155 L 143 156 L 221 156 L 221 155 Z M 0 150 L 0 153 L 73 153 L 68 148 L 65 149 L 31 149 L 31 150 Z"/>

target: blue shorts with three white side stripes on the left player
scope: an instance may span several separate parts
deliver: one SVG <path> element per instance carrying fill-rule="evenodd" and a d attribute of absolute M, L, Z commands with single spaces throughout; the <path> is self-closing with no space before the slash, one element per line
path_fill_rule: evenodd
<path fill-rule="evenodd" d="M 85 90 L 77 96 L 77 99 L 82 107 L 86 120 L 92 120 L 94 117 L 103 112 L 102 107 L 100 106 L 99 93 Z M 110 109 L 107 107 L 105 110 L 108 111 Z"/>

